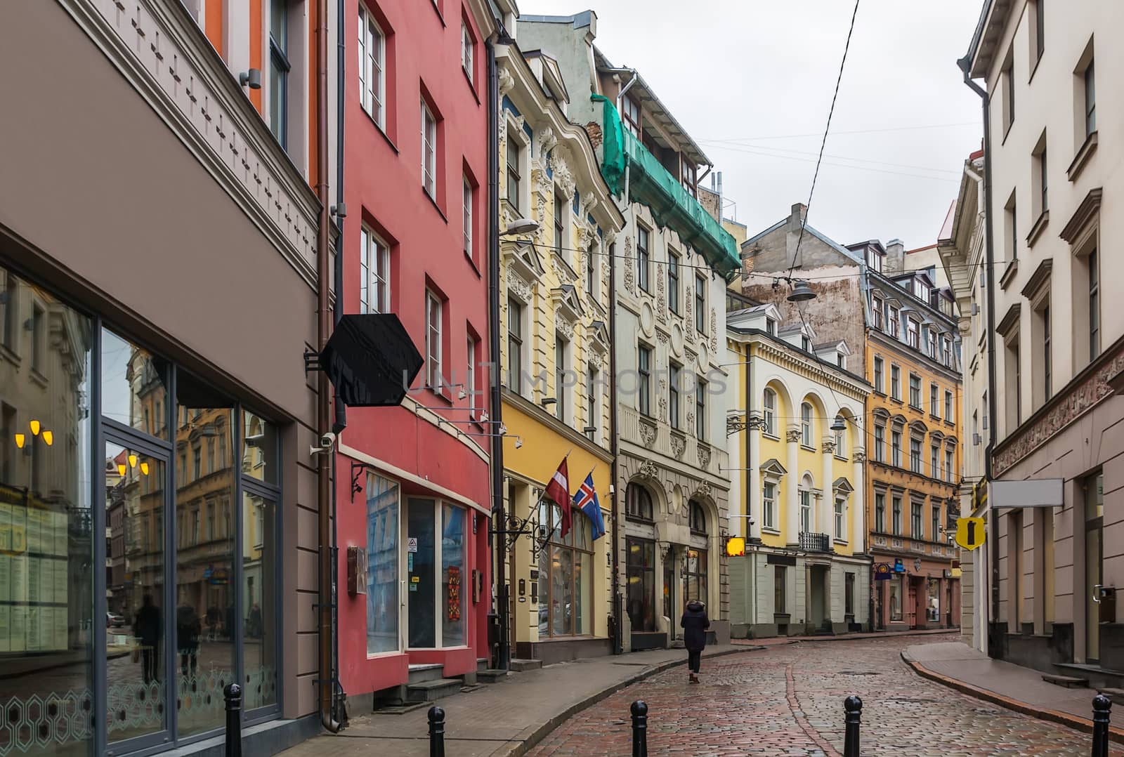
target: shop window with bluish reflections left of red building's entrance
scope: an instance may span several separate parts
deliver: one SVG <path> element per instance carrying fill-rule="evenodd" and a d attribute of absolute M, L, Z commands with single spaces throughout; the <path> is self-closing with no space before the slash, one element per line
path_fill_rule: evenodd
<path fill-rule="evenodd" d="M 398 483 L 366 474 L 366 654 L 398 650 Z M 407 555 L 408 567 L 417 555 Z"/>

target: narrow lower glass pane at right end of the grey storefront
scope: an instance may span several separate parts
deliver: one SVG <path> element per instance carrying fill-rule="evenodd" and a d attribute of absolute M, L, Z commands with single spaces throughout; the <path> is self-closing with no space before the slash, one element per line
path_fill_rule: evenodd
<path fill-rule="evenodd" d="M 244 708 L 278 703 L 277 503 L 242 495 Z M 233 599 L 232 599 L 233 601 Z"/>

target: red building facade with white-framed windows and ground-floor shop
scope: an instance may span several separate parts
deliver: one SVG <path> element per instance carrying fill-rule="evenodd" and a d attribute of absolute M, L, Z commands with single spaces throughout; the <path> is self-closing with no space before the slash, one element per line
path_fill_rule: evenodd
<path fill-rule="evenodd" d="M 339 678 L 360 710 L 409 665 L 451 678 L 488 655 L 493 29 L 482 0 L 355 0 L 344 30 L 344 312 L 396 313 L 425 357 L 401 407 L 350 409 L 338 440 Z"/>

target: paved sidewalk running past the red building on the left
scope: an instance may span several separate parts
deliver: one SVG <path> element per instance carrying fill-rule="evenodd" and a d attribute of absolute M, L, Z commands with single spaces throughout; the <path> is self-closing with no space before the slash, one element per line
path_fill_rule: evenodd
<path fill-rule="evenodd" d="M 760 647 L 758 647 L 760 648 Z M 751 651 L 745 645 L 708 647 L 704 657 Z M 495 684 L 438 702 L 445 710 L 445 749 L 456 757 L 516 757 L 566 718 L 625 686 L 678 665 L 682 649 L 656 649 L 511 673 Z M 686 674 L 685 674 L 686 675 Z M 362 714 L 338 736 L 324 735 L 281 753 L 285 757 L 425 757 L 428 708 L 406 714 Z"/>

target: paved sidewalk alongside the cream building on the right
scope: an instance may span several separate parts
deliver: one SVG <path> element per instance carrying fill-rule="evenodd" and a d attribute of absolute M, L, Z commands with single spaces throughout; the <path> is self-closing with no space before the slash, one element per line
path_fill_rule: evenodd
<path fill-rule="evenodd" d="M 1040 671 L 991 659 L 961 641 L 914 645 L 901 651 L 901 659 L 919 675 L 964 694 L 1077 730 L 1093 730 L 1096 690 L 1046 683 Z M 1109 736 L 1124 742 L 1124 729 L 1111 728 Z"/>

